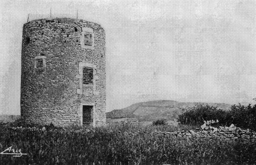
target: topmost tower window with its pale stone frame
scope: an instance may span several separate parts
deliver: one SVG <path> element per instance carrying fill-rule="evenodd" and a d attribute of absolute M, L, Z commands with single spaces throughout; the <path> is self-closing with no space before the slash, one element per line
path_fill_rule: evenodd
<path fill-rule="evenodd" d="M 91 28 L 83 27 L 81 33 L 81 47 L 94 49 L 94 31 Z"/>

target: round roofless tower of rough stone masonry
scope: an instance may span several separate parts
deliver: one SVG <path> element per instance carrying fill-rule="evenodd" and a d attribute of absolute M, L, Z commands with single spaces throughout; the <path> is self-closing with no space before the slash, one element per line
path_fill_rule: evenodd
<path fill-rule="evenodd" d="M 105 32 L 68 18 L 24 24 L 21 118 L 28 124 L 106 123 Z"/>

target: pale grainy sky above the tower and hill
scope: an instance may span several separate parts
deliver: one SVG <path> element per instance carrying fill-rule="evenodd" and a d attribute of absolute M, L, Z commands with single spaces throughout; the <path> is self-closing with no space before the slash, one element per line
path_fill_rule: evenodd
<path fill-rule="evenodd" d="M 108 111 L 148 100 L 252 102 L 254 0 L 1 0 L 0 114 L 20 113 L 22 26 L 69 17 L 106 32 Z"/>

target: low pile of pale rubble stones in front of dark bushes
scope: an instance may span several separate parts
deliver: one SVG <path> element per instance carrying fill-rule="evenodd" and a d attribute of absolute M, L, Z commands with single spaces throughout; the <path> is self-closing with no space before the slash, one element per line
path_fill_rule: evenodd
<path fill-rule="evenodd" d="M 242 128 L 236 127 L 235 125 L 219 126 L 218 128 L 212 126 L 202 125 L 201 129 L 196 129 L 195 131 L 176 131 L 176 132 L 155 132 L 157 135 L 170 135 L 176 137 L 196 137 L 196 138 L 211 138 L 211 139 L 226 139 L 235 140 L 243 139 L 246 141 L 256 142 L 256 132 L 252 130 L 244 130 Z"/>

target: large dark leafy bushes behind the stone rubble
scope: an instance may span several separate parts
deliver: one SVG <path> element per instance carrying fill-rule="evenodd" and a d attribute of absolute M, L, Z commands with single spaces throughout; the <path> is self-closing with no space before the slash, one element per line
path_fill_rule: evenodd
<path fill-rule="evenodd" d="M 216 125 L 231 125 L 256 130 L 256 105 L 242 106 L 241 104 L 231 106 L 229 111 L 218 109 L 207 104 L 197 104 L 194 107 L 183 109 L 179 115 L 181 124 L 202 125 L 207 120 L 216 120 Z"/>

